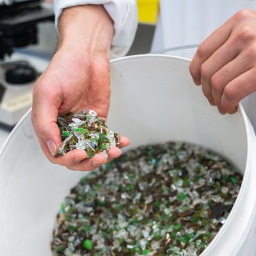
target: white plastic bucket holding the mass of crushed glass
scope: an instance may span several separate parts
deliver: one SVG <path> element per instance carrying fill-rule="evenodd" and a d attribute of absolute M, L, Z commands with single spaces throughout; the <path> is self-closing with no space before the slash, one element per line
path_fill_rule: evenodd
<path fill-rule="evenodd" d="M 209 105 L 188 66 L 186 59 L 164 55 L 111 61 L 108 125 L 128 136 L 131 147 L 188 141 L 232 161 L 244 173 L 243 184 L 202 256 L 256 255 L 255 134 L 241 106 L 235 115 L 223 116 Z M 47 161 L 27 113 L 0 153 L 0 255 L 51 255 L 56 213 L 85 174 Z"/>

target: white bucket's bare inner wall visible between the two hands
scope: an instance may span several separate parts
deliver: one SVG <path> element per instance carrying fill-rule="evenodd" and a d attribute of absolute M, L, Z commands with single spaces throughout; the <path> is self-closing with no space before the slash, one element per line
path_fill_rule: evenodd
<path fill-rule="evenodd" d="M 243 173 L 247 138 L 241 111 L 220 115 L 188 70 L 189 61 L 170 56 L 114 61 L 109 127 L 131 138 L 132 147 L 175 140 L 211 148 Z"/>

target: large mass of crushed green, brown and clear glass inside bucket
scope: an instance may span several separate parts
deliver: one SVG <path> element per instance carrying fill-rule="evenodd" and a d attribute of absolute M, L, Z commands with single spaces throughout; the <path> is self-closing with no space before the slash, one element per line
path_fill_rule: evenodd
<path fill-rule="evenodd" d="M 188 143 L 129 150 L 71 189 L 58 213 L 54 256 L 193 256 L 228 217 L 242 176 Z"/>

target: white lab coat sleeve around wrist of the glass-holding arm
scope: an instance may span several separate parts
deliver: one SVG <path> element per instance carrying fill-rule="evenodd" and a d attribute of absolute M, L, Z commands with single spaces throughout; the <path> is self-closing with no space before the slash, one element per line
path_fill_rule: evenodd
<path fill-rule="evenodd" d="M 84 4 L 103 4 L 114 22 L 111 58 L 124 56 L 132 45 L 138 25 L 136 0 L 54 0 L 56 28 L 63 9 Z"/>

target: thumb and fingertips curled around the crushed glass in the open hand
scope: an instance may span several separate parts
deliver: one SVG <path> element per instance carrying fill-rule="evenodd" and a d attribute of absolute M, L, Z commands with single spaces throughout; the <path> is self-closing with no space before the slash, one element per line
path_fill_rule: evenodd
<path fill-rule="evenodd" d="M 50 97 L 44 97 L 42 93 L 40 93 L 40 99 L 36 96 L 35 93 L 32 121 L 42 150 L 52 163 L 67 166 L 70 170 L 95 170 L 101 164 L 120 156 L 120 148 L 127 147 L 130 144 L 128 138 L 120 136 L 120 144 L 108 151 L 108 157 L 104 157 L 103 154 L 96 154 L 92 159 L 87 159 L 84 150 L 72 150 L 62 156 L 54 157 L 61 143 L 60 130 L 56 124 L 58 108 L 49 100 Z M 42 108 L 41 106 L 45 107 Z"/>

